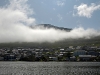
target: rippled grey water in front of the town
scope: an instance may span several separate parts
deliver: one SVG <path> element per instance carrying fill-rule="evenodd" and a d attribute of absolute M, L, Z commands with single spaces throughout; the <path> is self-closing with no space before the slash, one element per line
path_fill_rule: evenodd
<path fill-rule="evenodd" d="M 0 62 L 0 75 L 100 75 L 100 62 Z"/>

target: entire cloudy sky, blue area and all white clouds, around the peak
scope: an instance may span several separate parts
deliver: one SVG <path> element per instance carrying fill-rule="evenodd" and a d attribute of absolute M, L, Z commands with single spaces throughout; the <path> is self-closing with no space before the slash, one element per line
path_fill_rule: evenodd
<path fill-rule="evenodd" d="M 99 0 L 0 0 L 0 43 L 52 43 L 100 36 L 99 13 Z M 30 28 L 37 24 L 72 31 Z"/>

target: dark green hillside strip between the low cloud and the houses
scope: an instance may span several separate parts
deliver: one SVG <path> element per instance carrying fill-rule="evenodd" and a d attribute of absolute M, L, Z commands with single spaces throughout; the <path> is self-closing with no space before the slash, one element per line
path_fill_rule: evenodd
<path fill-rule="evenodd" d="M 0 48 L 2 47 L 42 47 L 42 48 L 57 48 L 66 46 L 100 46 L 100 36 L 92 39 L 68 39 L 62 40 L 54 43 L 33 43 L 33 42 L 23 42 L 23 43 L 0 43 Z"/>

